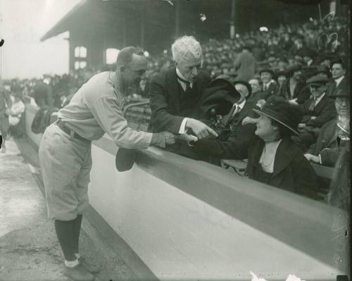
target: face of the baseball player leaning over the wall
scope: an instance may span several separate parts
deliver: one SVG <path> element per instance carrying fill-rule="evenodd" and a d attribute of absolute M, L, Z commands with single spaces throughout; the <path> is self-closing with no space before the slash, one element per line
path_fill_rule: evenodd
<path fill-rule="evenodd" d="M 132 61 L 126 65 L 122 71 L 123 83 L 127 86 L 138 86 L 139 81 L 144 77 L 147 68 L 148 60 L 146 57 L 134 54 L 132 56 Z"/>

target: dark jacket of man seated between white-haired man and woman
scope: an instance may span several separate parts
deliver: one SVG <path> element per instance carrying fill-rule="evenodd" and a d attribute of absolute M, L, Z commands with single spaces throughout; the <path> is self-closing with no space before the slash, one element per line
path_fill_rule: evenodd
<path fill-rule="evenodd" d="M 258 118 L 259 115 L 253 111 L 253 108 L 260 110 L 258 106 L 256 106 L 256 102 L 247 100 L 244 107 L 239 112 L 238 116 L 234 116 L 234 120 L 230 123 L 231 133 L 229 137 L 229 141 L 243 141 L 246 139 L 252 139 L 255 137 L 254 132 L 256 131 L 255 124 L 246 124 L 242 125 L 242 121 L 244 118 Z"/>

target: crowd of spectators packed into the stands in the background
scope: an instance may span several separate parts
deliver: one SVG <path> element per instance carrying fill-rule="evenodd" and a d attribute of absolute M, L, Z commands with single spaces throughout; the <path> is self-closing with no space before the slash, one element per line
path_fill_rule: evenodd
<path fill-rule="evenodd" d="M 322 20 L 310 18 L 304 24 L 246 32 L 234 39 L 209 39 L 202 45 L 203 70 L 213 79 L 222 77 L 231 82 L 249 82 L 251 101 L 255 101 L 258 108 L 263 108 L 265 100 L 274 94 L 301 106 L 305 113 L 298 125 L 301 135 L 296 142 L 304 152 L 310 151 L 309 155 L 313 155 L 314 149 L 310 146 L 315 144 L 321 128 L 338 116 L 334 101 L 328 96 L 337 90 L 349 95 L 349 48 L 348 17 L 331 13 Z M 172 65 L 170 51 L 150 56 L 149 70 L 139 87 L 131 89 L 131 100 L 147 99 L 151 78 Z M 109 65 L 100 70 L 84 68 L 64 75 L 44 75 L 42 79 L 9 80 L 5 87 L 20 99 L 32 97 L 40 108 L 59 109 L 68 104 L 92 75 L 113 68 L 114 65 Z M 315 83 L 312 85 L 309 81 L 313 77 Z M 324 99 L 319 99 L 318 94 L 314 97 L 313 92 L 319 85 L 324 88 Z M 312 157 L 310 160 L 322 162 Z"/>

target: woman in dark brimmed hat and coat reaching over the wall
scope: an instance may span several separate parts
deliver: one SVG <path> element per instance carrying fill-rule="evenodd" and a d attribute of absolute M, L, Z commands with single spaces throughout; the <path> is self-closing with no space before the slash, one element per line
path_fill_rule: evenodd
<path fill-rule="evenodd" d="M 201 139 L 194 151 L 218 158 L 248 158 L 246 175 L 253 180 L 317 198 L 317 175 L 301 150 L 291 140 L 301 112 L 282 97 L 271 96 L 256 123 L 256 139 L 244 142 L 219 142 Z"/>

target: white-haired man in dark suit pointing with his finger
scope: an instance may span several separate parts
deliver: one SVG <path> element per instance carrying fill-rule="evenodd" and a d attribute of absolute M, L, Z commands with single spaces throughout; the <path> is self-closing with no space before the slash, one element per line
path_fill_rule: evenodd
<path fill-rule="evenodd" d="M 172 44 L 171 51 L 175 67 L 151 81 L 150 130 L 189 133 L 198 139 L 210 134 L 217 136 L 216 132 L 198 120 L 201 118 L 201 94 L 210 82 L 208 73 L 201 70 L 201 44 L 192 36 L 184 36 Z M 180 145 L 172 151 L 179 149 Z"/>

